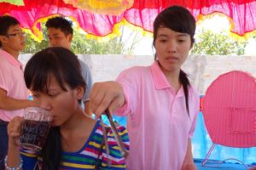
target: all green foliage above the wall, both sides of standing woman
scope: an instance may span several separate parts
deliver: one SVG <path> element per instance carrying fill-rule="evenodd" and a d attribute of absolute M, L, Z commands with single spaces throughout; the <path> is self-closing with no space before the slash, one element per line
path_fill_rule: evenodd
<path fill-rule="evenodd" d="M 44 40 L 36 42 L 30 35 L 26 36 L 26 48 L 24 54 L 35 54 L 40 49 L 48 47 L 47 31 L 42 24 Z M 124 35 L 124 26 L 120 29 L 121 35 Z M 79 28 L 74 27 L 72 50 L 75 54 L 134 54 L 134 48 L 142 37 L 137 35 L 136 31 L 125 38 L 124 36 L 113 37 L 108 42 L 98 42 L 94 39 L 88 39 Z M 256 39 L 256 36 L 253 38 Z M 238 42 L 222 31 L 215 33 L 210 30 L 200 30 L 195 34 L 195 44 L 191 49 L 191 54 L 209 54 L 209 55 L 229 55 L 245 54 L 247 42 Z"/>

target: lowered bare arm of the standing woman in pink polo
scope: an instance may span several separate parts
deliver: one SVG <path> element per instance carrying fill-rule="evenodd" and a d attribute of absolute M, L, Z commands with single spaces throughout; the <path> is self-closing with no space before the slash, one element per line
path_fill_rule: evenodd
<path fill-rule="evenodd" d="M 183 161 L 182 170 L 196 170 L 196 169 L 197 169 L 197 167 L 195 167 L 195 163 L 194 163 L 193 156 L 192 156 L 191 139 L 189 139 L 186 156 Z"/>

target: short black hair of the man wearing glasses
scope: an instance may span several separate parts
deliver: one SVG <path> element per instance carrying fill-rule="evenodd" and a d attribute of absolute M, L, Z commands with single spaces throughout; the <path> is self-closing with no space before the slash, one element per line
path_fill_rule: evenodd
<path fill-rule="evenodd" d="M 14 17 L 9 15 L 3 15 L 0 17 L 0 36 L 6 36 L 10 26 L 20 25 L 20 22 Z M 0 48 L 2 47 L 2 42 L 0 41 Z"/>

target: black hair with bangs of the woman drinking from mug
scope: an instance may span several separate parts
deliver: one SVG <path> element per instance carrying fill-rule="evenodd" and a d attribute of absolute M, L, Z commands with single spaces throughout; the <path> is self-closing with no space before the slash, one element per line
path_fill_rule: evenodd
<path fill-rule="evenodd" d="M 26 87 L 32 91 L 47 93 L 52 76 L 64 91 L 67 91 L 65 84 L 72 89 L 85 87 L 79 59 L 66 48 L 45 48 L 34 54 L 26 64 L 24 71 Z M 61 153 L 60 127 L 50 127 L 49 136 L 41 151 L 43 169 L 59 169 Z"/>

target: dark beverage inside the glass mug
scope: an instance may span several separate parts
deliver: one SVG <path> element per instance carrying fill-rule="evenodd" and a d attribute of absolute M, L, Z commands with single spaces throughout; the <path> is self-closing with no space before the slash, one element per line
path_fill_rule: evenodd
<path fill-rule="evenodd" d="M 49 127 L 49 122 L 25 120 L 20 136 L 21 146 L 28 150 L 41 150 Z"/>

